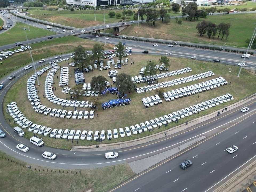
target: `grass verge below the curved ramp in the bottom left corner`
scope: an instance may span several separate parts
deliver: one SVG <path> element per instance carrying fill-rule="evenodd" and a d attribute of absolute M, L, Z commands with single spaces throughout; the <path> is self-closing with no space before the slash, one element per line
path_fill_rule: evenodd
<path fill-rule="evenodd" d="M 8 158 L 15 163 L 8 161 Z M 0 191 L 84 192 L 91 189 L 92 191 L 106 192 L 134 175 L 127 164 L 97 169 L 61 170 L 29 165 L 1 151 L 0 166 L 2 173 L 0 179 L 2 183 L 5 183 L 1 186 Z M 31 170 L 26 166 L 32 166 Z"/>

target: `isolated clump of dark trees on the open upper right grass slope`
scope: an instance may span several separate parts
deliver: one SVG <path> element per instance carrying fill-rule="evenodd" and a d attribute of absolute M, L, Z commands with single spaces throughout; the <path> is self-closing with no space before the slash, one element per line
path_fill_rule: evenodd
<path fill-rule="evenodd" d="M 219 25 L 216 25 L 212 22 L 202 21 L 197 23 L 197 30 L 198 34 L 200 36 L 204 36 L 204 34 L 207 33 L 208 38 L 215 38 L 215 35 L 218 34 L 218 38 L 220 35 L 222 35 L 221 40 L 225 36 L 225 39 L 229 37 L 229 29 L 230 29 L 230 23 L 220 23 Z"/>

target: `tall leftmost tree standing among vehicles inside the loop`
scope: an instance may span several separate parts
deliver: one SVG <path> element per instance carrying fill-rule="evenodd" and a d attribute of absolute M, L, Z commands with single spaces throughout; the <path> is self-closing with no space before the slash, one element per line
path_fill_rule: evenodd
<path fill-rule="evenodd" d="M 85 48 L 82 45 L 78 45 L 74 49 L 73 61 L 75 66 L 83 70 L 84 66 L 89 62 L 89 56 L 85 52 Z"/>

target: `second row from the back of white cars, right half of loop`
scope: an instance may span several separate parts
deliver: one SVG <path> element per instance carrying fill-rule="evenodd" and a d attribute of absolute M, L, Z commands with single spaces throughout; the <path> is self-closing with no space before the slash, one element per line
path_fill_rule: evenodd
<path fill-rule="evenodd" d="M 188 77 L 182 77 L 182 78 L 178 78 L 178 79 L 173 79 L 171 81 L 166 81 L 166 82 L 162 82 L 162 83 L 155 83 L 154 85 L 148 85 L 148 86 L 143 86 L 143 87 L 137 87 L 136 88 L 136 92 L 137 93 L 145 93 L 148 91 L 152 91 L 155 89 L 160 89 L 160 88 L 166 88 L 166 87 L 170 87 L 170 86 L 174 86 L 174 85 L 180 85 L 182 83 L 188 83 L 191 81 L 196 81 L 198 79 L 203 79 L 206 77 L 211 77 L 213 76 L 214 73 L 212 71 L 208 71 L 205 73 L 199 73 L 196 75 L 191 75 Z"/>

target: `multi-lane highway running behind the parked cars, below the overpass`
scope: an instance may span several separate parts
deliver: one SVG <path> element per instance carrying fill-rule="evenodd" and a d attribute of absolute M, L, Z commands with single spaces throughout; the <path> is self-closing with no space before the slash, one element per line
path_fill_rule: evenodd
<path fill-rule="evenodd" d="M 97 42 L 105 42 L 105 37 L 95 37 L 90 34 L 79 35 L 81 38 L 90 39 Z M 153 46 L 153 43 L 109 38 L 106 43 L 118 44 L 121 41 L 126 43 L 126 46 L 133 47 L 133 49 L 141 50 L 135 51 L 133 53 L 142 53 L 144 50 L 149 50 L 149 54 L 155 55 L 165 55 L 167 52 L 171 52 L 174 57 L 181 58 L 191 58 L 192 56 L 197 56 L 198 60 L 202 61 L 213 61 L 213 59 L 220 59 L 222 64 L 238 65 L 243 61 L 241 54 L 227 53 L 224 51 L 211 51 L 205 49 L 197 49 L 191 47 L 183 47 L 179 45 L 174 45 L 173 47 L 168 47 L 166 44 L 158 44 L 159 46 Z M 170 57 L 172 57 L 170 56 Z M 256 57 L 250 56 L 249 59 L 245 60 L 248 67 L 256 67 Z"/>

